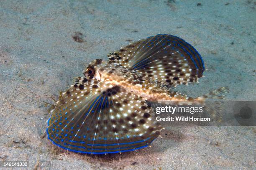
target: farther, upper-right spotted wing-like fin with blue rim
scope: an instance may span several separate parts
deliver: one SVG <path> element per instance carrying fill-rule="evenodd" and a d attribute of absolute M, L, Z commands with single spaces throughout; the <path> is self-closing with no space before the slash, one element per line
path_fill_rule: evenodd
<path fill-rule="evenodd" d="M 110 53 L 108 57 L 114 63 L 169 86 L 197 82 L 205 70 L 197 50 L 172 35 L 148 37 Z"/>

